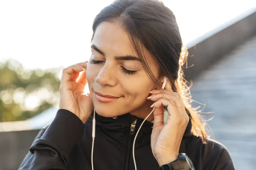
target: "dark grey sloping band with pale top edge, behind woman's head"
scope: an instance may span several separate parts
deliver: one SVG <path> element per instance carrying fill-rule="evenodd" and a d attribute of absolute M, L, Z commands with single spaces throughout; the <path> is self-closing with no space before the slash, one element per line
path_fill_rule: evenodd
<path fill-rule="evenodd" d="M 188 67 L 194 65 L 184 70 L 185 79 L 193 79 L 254 34 L 256 8 L 189 42 Z"/>

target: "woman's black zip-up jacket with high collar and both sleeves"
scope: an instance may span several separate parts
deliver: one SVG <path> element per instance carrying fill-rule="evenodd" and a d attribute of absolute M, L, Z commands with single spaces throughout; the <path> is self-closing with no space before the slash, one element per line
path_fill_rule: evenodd
<path fill-rule="evenodd" d="M 135 130 L 131 124 L 137 119 Z M 127 113 L 116 119 L 96 114 L 96 137 L 93 151 L 94 170 L 134 170 L 132 143 L 143 119 Z M 135 144 L 137 170 L 159 170 L 150 137 L 153 123 L 145 121 Z M 201 139 L 186 128 L 180 153 L 186 153 L 195 170 L 234 170 L 224 145 Z M 70 111 L 58 110 L 55 119 L 36 136 L 19 170 L 91 170 L 92 116 L 83 124 Z"/>

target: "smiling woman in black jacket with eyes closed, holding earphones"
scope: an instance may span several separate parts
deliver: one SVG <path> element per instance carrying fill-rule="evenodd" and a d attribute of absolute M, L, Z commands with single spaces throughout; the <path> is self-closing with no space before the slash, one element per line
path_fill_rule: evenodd
<path fill-rule="evenodd" d="M 175 15 L 163 3 L 116 0 L 105 7 L 93 22 L 91 51 L 89 62 L 63 70 L 60 109 L 20 170 L 134 170 L 133 159 L 138 170 L 234 169 L 227 149 L 207 138 L 190 105 L 182 71 L 187 51 Z M 86 83 L 89 95 L 83 94 Z M 134 157 L 135 134 L 152 108 Z"/>

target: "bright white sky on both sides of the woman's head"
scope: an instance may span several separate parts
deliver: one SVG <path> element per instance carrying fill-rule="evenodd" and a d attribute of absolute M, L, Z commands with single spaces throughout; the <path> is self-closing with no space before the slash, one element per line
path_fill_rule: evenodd
<path fill-rule="evenodd" d="M 0 62 L 25 68 L 67 67 L 90 58 L 93 18 L 112 0 L 1 0 Z M 256 7 L 256 0 L 163 0 L 176 15 L 183 43 Z"/>

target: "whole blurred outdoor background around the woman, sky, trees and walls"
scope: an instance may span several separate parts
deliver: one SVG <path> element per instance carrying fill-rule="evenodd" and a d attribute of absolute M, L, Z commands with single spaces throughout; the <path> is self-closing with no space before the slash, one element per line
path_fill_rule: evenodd
<path fill-rule="evenodd" d="M 61 70 L 90 58 L 93 19 L 111 2 L 0 1 L 0 170 L 17 170 L 55 117 Z M 256 1 L 163 2 L 189 49 L 185 78 L 211 138 L 237 170 L 255 169 Z"/>

